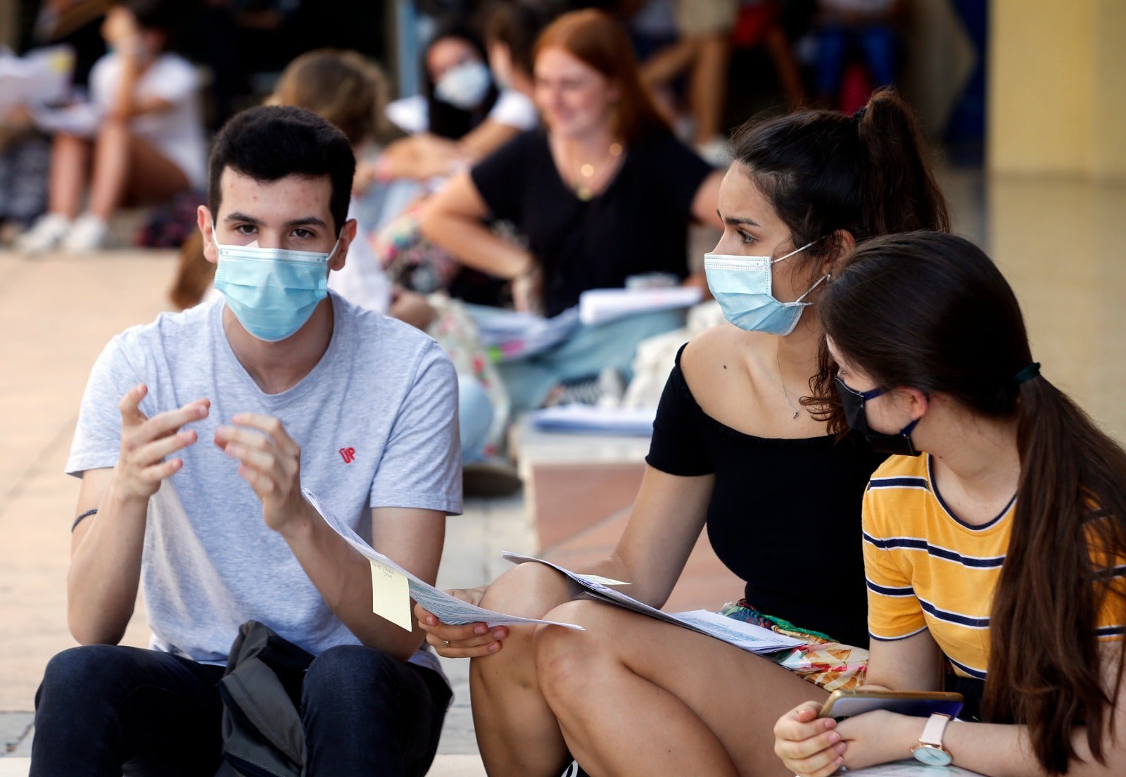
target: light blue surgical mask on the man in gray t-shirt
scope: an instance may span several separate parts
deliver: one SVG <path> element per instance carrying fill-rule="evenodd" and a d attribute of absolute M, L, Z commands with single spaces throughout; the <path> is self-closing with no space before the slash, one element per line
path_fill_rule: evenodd
<path fill-rule="evenodd" d="M 338 238 L 321 253 L 216 241 L 215 288 L 248 332 L 267 342 L 285 340 L 328 295 L 329 259 L 339 245 Z"/>

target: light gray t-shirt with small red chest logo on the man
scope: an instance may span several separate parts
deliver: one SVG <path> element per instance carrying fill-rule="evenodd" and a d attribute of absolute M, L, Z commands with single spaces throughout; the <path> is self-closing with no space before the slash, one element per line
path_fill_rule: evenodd
<path fill-rule="evenodd" d="M 115 337 L 93 366 L 66 472 L 113 467 L 120 398 L 149 386 L 152 418 L 199 398 L 211 413 L 184 467 L 149 500 L 141 582 L 151 646 L 223 663 L 239 625 L 260 620 L 311 653 L 358 640 L 329 609 L 238 462 L 214 444 L 238 412 L 282 420 L 301 446 L 301 482 L 365 541 L 374 507 L 462 510 L 457 377 L 419 330 L 331 294 L 328 350 L 297 385 L 263 393 L 223 332 L 222 297 Z M 378 548 L 377 548 L 378 550 Z M 412 661 L 436 667 L 422 650 Z"/>

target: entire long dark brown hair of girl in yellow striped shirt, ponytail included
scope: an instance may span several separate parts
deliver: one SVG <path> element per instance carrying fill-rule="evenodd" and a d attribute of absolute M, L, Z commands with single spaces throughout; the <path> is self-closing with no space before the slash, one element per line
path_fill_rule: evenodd
<path fill-rule="evenodd" d="M 917 232 L 864 244 L 817 311 L 840 352 L 877 385 L 938 392 L 978 416 L 1016 419 L 1020 480 L 990 616 L 983 712 L 1027 725 L 1051 774 L 1076 757 L 1080 726 L 1105 762 L 1123 663 L 1119 653 L 1106 688 L 1098 616 L 1112 604 L 1116 623 L 1126 623 L 1126 452 L 1045 377 L 1015 379 L 1033 361 L 1020 306 L 963 238 Z M 812 400 L 839 430 L 834 375 L 822 351 Z"/>

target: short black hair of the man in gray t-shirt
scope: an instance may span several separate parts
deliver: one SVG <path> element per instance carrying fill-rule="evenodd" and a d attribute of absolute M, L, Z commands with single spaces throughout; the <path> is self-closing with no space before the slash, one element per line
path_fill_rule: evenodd
<path fill-rule="evenodd" d="M 212 149 L 207 206 L 218 215 L 223 170 L 271 182 L 286 176 L 321 178 L 332 184 L 329 211 L 336 233 L 348 220 L 356 157 L 343 133 L 311 110 L 285 105 L 260 106 L 235 114 L 223 125 Z"/>

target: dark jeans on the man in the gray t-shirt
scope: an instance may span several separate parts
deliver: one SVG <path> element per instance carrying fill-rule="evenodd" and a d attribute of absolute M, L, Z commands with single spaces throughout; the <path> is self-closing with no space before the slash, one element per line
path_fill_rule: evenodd
<path fill-rule="evenodd" d="M 32 777 L 209 777 L 221 758 L 223 667 L 119 645 L 55 655 L 35 696 Z M 302 687 L 306 774 L 421 777 L 449 689 L 429 669 L 359 645 L 331 648 Z"/>

